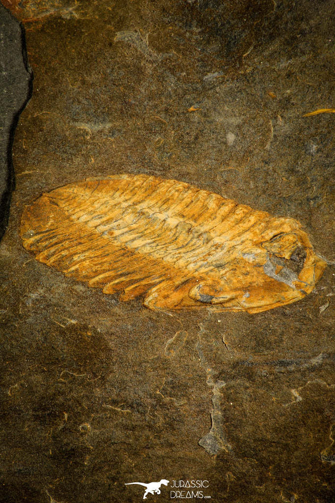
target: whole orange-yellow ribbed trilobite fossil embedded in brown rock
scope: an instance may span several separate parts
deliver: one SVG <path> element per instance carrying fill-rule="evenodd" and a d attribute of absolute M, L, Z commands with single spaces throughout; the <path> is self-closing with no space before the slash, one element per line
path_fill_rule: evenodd
<path fill-rule="evenodd" d="M 296 220 L 147 175 L 43 194 L 21 236 L 40 262 L 150 309 L 257 313 L 301 299 L 326 267 Z"/>

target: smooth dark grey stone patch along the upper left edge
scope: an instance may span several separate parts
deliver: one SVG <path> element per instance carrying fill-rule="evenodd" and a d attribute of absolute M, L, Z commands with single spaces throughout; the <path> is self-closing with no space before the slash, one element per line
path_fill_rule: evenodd
<path fill-rule="evenodd" d="M 15 188 L 12 146 L 20 113 L 32 92 L 32 70 L 28 64 L 24 31 L 0 4 L 0 239 L 9 218 Z"/>

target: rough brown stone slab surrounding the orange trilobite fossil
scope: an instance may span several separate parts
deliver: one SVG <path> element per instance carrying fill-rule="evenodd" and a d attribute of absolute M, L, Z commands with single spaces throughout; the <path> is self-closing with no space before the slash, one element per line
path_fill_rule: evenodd
<path fill-rule="evenodd" d="M 332 501 L 335 114 L 304 115 L 334 108 L 334 3 L 7 3 L 35 89 L 0 247 L 0 500 L 135 503 L 126 483 L 167 479 L 148 503 L 180 480 L 212 501 Z M 295 218 L 329 266 L 289 306 L 170 316 L 23 248 L 26 204 L 116 173 Z"/>

